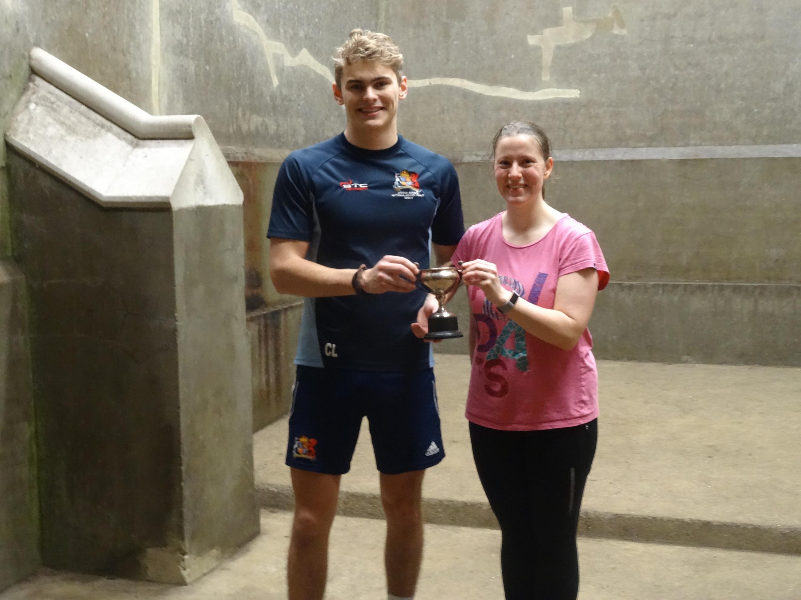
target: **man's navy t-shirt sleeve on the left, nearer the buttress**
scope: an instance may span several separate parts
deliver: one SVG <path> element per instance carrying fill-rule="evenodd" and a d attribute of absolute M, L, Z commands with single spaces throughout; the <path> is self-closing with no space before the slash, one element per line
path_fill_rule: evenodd
<path fill-rule="evenodd" d="M 296 156 L 290 154 L 276 178 L 267 237 L 308 242 L 312 239 L 313 230 L 311 183 Z"/>

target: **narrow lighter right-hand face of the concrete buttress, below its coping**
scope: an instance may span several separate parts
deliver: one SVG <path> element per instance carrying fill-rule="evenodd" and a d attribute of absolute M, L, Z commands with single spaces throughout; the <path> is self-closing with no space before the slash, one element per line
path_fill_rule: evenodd
<path fill-rule="evenodd" d="M 195 563 L 184 581 L 191 582 L 259 534 L 242 206 L 175 210 L 172 226 L 183 551 Z"/>

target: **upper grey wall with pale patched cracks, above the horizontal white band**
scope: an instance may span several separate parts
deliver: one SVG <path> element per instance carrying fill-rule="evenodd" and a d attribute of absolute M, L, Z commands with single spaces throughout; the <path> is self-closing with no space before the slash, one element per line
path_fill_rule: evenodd
<path fill-rule="evenodd" d="M 317 142 L 341 129 L 332 49 L 362 26 L 404 51 L 401 129 L 446 154 L 484 152 L 517 115 L 545 122 L 561 148 L 797 142 L 797 2 L 614 4 L 619 34 L 598 21 L 606 0 L 162 0 L 159 106 L 205 115 L 222 145 Z M 545 80 L 529 36 L 562 26 L 566 6 L 591 35 L 557 46 Z"/>

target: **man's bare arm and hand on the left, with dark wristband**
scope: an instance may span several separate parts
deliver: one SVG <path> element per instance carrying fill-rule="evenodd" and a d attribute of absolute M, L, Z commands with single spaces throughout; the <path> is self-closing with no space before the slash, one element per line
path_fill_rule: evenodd
<path fill-rule="evenodd" d="M 356 269 L 319 265 L 306 259 L 307 252 L 308 242 L 270 238 L 270 278 L 280 294 L 324 298 L 356 293 L 351 285 Z M 418 272 L 417 266 L 407 258 L 384 256 L 359 274 L 359 282 L 368 294 L 409 292 L 416 289 L 413 282 Z"/>

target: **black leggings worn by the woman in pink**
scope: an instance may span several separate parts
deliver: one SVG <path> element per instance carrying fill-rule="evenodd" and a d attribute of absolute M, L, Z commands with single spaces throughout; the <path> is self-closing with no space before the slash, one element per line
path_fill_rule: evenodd
<path fill-rule="evenodd" d="M 598 419 L 501 431 L 470 423 L 478 477 L 501 524 L 506 600 L 575 600 L 576 530 L 598 442 Z"/>

